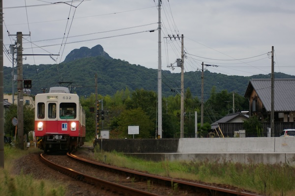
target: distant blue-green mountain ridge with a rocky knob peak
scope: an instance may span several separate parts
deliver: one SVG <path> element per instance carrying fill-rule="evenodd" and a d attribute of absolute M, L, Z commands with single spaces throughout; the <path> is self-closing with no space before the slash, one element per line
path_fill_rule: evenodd
<path fill-rule="evenodd" d="M 4 67 L 4 93 L 12 92 L 11 67 Z M 17 70 L 15 68 L 15 73 Z M 95 74 L 97 74 L 98 94 L 114 95 L 119 90 L 141 89 L 157 91 L 158 70 L 148 69 L 127 61 L 113 59 L 100 45 L 91 49 L 75 49 L 60 64 L 24 65 L 23 79 L 32 80 L 31 94 L 47 92 L 50 87 L 71 87 L 78 95 L 88 96 L 95 93 Z M 190 88 L 193 96 L 201 97 L 201 71 L 184 73 L 184 88 Z M 216 91 L 227 90 L 244 95 L 251 79 L 270 78 L 270 75 L 251 77 L 227 76 L 224 74 L 204 72 L 204 98 L 210 97 L 213 86 Z M 275 73 L 275 78 L 295 78 L 283 73 Z M 163 96 L 180 92 L 180 73 L 162 70 Z M 15 92 L 17 91 L 15 82 Z"/>

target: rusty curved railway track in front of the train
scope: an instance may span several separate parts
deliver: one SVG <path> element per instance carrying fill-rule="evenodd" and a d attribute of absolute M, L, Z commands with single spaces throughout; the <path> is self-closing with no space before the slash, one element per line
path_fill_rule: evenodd
<path fill-rule="evenodd" d="M 124 196 L 259 196 L 243 190 L 219 188 L 109 166 L 69 153 L 62 161 L 59 161 L 60 156 L 41 154 L 40 157 L 49 167 L 112 194 Z"/>

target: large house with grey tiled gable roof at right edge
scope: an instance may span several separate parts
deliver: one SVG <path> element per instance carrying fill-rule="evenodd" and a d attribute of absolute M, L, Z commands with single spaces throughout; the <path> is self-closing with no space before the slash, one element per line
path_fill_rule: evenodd
<path fill-rule="evenodd" d="M 271 79 L 252 79 L 245 97 L 250 103 L 250 115 L 269 122 Z M 295 79 L 274 79 L 274 122 L 295 122 Z"/>

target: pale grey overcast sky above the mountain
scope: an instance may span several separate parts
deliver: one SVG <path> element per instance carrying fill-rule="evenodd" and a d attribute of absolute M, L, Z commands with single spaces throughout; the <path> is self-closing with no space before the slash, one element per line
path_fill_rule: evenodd
<path fill-rule="evenodd" d="M 158 69 L 158 0 L 3 0 L 3 43 L 22 32 L 24 64 L 56 64 L 74 49 L 101 45 L 111 57 Z M 226 75 L 295 75 L 295 0 L 162 0 L 162 69 Z M 149 32 L 155 30 L 153 32 Z M 27 36 L 30 33 L 30 36 Z M 10 34 L 10 36 L 9 36 Z M 4 49 L 5 50 L 5 49 Z M 9 58 L 8 58 L 8 57 Z M 4 54 L 11 67 L 11 54 Z"/>

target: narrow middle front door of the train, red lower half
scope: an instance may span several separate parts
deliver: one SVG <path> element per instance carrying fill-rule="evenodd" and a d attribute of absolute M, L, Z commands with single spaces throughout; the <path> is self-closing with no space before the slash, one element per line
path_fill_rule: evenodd
<path fill-rule="evenodd" d="M 57 102 L 48 102 L 47 133 L 59 133 L 57 120 Z"/>

